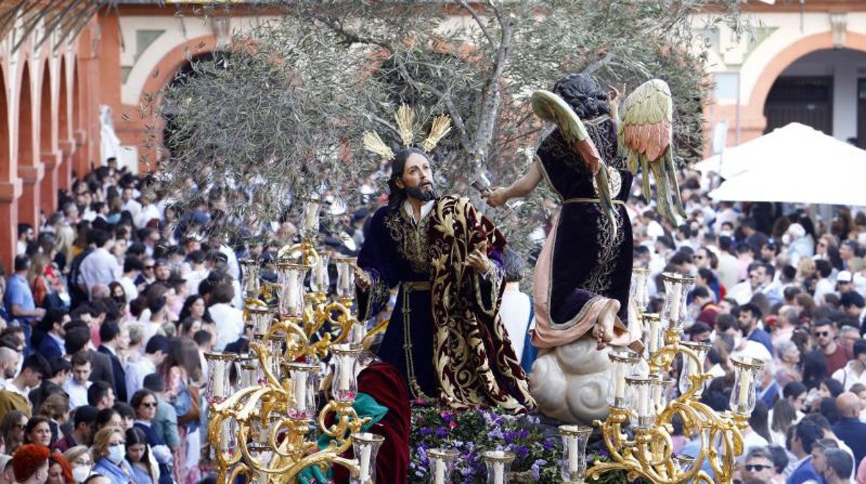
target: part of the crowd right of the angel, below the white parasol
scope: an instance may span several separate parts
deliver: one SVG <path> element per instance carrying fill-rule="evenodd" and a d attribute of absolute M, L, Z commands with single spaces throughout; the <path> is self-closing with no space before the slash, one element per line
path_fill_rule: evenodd
<path fill-rule="evenodd" d="M 702 400 L 714 410 L 728 408 L 731 358 L 764 362 L 741 482 L 866 483 L 866 214 L 711 203 L 707 183 L 683 177 L 688 219 L 676 227 L 630 203 L 650 312 L 662 307 L 663 272 L 695 276 L 684 339 L 711 345 Z M 700 438 L 676 430 L 676 451 L 696 456 Z"/>

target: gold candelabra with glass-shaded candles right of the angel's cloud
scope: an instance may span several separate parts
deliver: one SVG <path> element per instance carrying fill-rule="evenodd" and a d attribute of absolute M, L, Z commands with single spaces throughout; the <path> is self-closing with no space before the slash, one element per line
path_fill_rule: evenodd
<path fill-rule="evenodd" d="M 643 354 L 617 350 L 611 358 L 610 414 L 595 421 L 602 432 L 611 461 L 596 462 L 587 469 L 591 479 L 613 470 L 624 470 L 629 481 L 643 477 L 659 484 L 675 482 L 731 482 L 736 457 L 743 452 L 742 430 L 756 402 L 757 371 L 763 362 L 754 358 L 732 358 L 734 390 L 729 412 L 720 414 L 701 403 L 704 385 L 712 376 L 703 369 L 709 345 L 682 341 L 686 297 L 695 279 L 680 274 L 662 274 L 665 301 L 661 314 L 646 313 L 646 269 L 635 269 L 632 298 L 643 322 Z M 682 368 L 680 395 L 668 399 L 674 380 L 664 378 L 677 355 Z M 700 452 L 694 457 L 676 455 L 671 435 L 674 416 L 682 419 L 686 436 L 699 436 Z M 632 436 L 625 432 L 630 423 Z M 708 461 L 715 479 L 701 465 Z M 564 481 L 583 482 L 584 469 L 565 470 Z"/>

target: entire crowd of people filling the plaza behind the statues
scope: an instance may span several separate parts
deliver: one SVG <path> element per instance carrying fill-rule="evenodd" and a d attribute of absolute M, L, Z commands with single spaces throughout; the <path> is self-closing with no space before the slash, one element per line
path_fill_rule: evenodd
<path fill-rule="evenodd" d="M 727 410 L 731 357 L 766 363 L 740 480 L 866 483 L 866 214 L 821 221 L 809 207 L 711 203 L 697 173 L 681 182 L 679 226 L 642 198 L 627 203 L 634 267 L 650 269 L 650 311 L 663 272 L 696 277 L 686 338 L 712 345 L 718 378 L 703 399 L 714 409 Z M 247 351 L 238 261 L 260 261 L 274 281 L 278 250 L 298 236 L 289 214 L 230 216 L 244 190 L 203 176 L 180 203 L 158 177 L 109 160 L 76 177 L 41 226 L 17 227 L 0 278 L 0 482 L 213 479 L 204 352 Z M 324 194 L 327 250 L 357 254 L 386 193 L 367 180 L 351 200 Z M 502 318 L 520 311 L 520 327 L 526 306 L 504 304 Z M 532 351 L 520 330 L 511 340 L 518 358 Z M 683 454 L 699 444 L 675 438 Z"/>

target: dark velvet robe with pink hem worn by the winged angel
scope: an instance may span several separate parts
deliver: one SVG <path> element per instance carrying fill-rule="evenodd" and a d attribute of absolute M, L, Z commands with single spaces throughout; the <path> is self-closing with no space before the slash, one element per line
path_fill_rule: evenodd
<path fill-rule="evenodd" d="M 632 175 L 624 159 L 617 156 L 614 121 L 604 116 L 585 121 L 585 126 L 605 164 L 618 173 L 611 177 L 618 228 L 614 231 L 601 205 L 592 202 L 598 200 L 594 177 L 559 129 L 555 130 L 536 152 L 547 184 L 562 203 L 535 270 L 533 344 L 540 347 L 578 339 L 591 330 L 608 300 L 617 300 L 619 319 L 628 320 L 632 239 L 629 216 L 621 202 L 628 197 Z"/>

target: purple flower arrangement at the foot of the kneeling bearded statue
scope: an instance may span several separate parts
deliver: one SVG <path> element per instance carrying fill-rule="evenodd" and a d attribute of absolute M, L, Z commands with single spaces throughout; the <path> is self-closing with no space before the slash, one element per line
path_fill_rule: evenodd
<path fill-rule="evenodd" d="M 452 482 L 486 482 L 481 453 L 508 450 L 516 456 L 511 465 L 511 482 L 559 483 L 562 443 L 555 428 L 541 425 L 538 416 L 514 416 L 496 409 L 449 410 L 416 408 L 412 410 L 409 482 L 430 482 L 430 449 L 455 449 L 460 457 Z M 590 451 L 588 461 L 604 460 L 604 450 Z M 624 473 L 604 474 L 597 482 L 625 483 Z"/>

